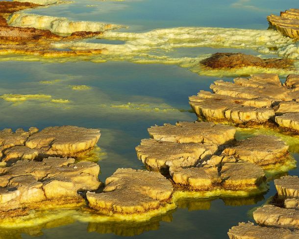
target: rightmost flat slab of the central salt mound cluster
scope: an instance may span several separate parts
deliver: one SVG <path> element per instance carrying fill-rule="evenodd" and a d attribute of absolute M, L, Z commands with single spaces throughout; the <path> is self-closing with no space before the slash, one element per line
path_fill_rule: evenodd
<path fill-rule="evenodd" d="M 257 135 L 233 146 L 228 146 L 222 152 L 238 159 L 266 166 L 282 162 L 289 156 L 289 146 L 280 138 L 272 135 Z"/>

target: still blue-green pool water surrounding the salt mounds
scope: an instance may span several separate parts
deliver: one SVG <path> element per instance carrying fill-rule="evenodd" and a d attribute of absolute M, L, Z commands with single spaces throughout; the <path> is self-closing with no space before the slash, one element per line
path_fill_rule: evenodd
<path fill-rule="evenodd" d="M 77 0 L 47 8 L 26 10 L 41 15 L 67 17 L 76 21 L 102 21 L 124 24 L 120 31 L 146 32 L 177 26 L 234 27 L 267 29 L 266 16 L 298 7 L 295 0 Z M 91 40 L 90 40 L 91 41 Z M 100 41 L 98 39 L 94 39 Z M 113 41 L 112 41 L 113 42 Z M 123 44 L 103 41 L 104 44 Z M 176 48 L 172 57 L 196 57 L 217 51 L 240 51 L 260 54 L 254 49 Z M 164 54 L 164 51 L 159 53 Z M 267 55 L 271 56 L 271 55 Z M 119 167 L 143 168 L 137 160 L 135 146 L 148 138 L 147 128 L 164 122 L 196 120 L 188 112 L 188 96 L 209 90 L 215 76 L 199 75 L 170 61 L 167 64 L 136 64 L 128 60 L 106 62 L 76 60 L 35 61 L 30 57 L 3 56 L 0 62 L 0 95 L 38 94 L 25 101 L 0 99 L 0 128 L 27 129 L 52 125 L 77 125 L 100 128 L 98 145 L 104 153 L 99 161 L 100 180 Z M 1 57 L 0 57 L 1 58 Z M 283 75 L 285 76 L 285 75 Z M 229 74 L 222 77 L 232 80 Z M 74 86 L 88 86 L 77 87 Z M 76 89 L 80 90 L 76 90 Z M 43 97 L 49 95 L 49 97 Z M 52 102 L 51 99 L 64 99 Z M 65 101 L 65 100 L 68 101 Z M 292 143 L 292 140 L 288 142 Z M 294 157 L 299 159 L 296 141 Z M 299 170 L 289 172 L 299 175 Z M 227 231 L 238 222 L 251 220 L 248 211 L 262 205 L 275 189 L 248 199 L 181 200 L 173 212 L 143 223 L 82 223 L 71 217 L 21 229 L 0 229 L 0 238 L 94 239 L 136 238 L 200 239 L 227 238 Z"/>

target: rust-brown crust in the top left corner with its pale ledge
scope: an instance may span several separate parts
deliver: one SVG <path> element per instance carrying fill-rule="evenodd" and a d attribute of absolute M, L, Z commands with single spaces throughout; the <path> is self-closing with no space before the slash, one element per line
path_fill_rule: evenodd
<path fill-rule="evenodd" d="M 100 31 L 100 26 L 104 29 L 110 29 L 113 24 L 101 24 L 101 23 L 81 23 L 84 25 L 82 29 L 76 28 L 80 23 L 73 23 L 63 19 L 55 19 L 54 17 L 41 16 L 37 19 L 39 23 L 49 23 L 52 21 L 52 26 L 57 26 L 58 28 L 68 28 L 73 29 L 72 32 L 67 32 L 68 36 L 60 36 L 52 33 L 50 30 L 37 29 L 35 27 L 20 27 L 12 26 L 11 23 L 8 24 L 6 19 L 12 22 L 12 18 L 16 21 L 25 23 L 33 23 L 35 21 L 35 15 L 23 16 L 22 13 L 15 13 L 16 11 L 39 7 L 40 4 L 29 3 L 29 2 L 19 2 L 19 1 L 1 1 L 0 2 L 0 54 L 34 54 L 46 57 L 66 57 L 66 56 L 77 56 L 77 55 L 92 55 L 100 54 L 101 49 L 88 49 L 88 50 L 57 50 L 53 47 L 52 43 L 58 42 L 69 42 L 78 39 L 87 39 L 95 36 L 99 36 L 102 31 Z M 15 13 L 15 14 L 14 14 Z M 42 19 L 44 18 L 44 19 Z M 57 25 L 58 24 L 58 25 Z M 89 29 L 88 26 L 97 26 L 95 29 Z M 106 27 L 106 28 L 105 28 Z M 110 28 L 109 28 L 110 27 Z M 40 27 L 42 28 L 42 27 Z M 60 29 L 59 28 L 59 29 Z M 87 29 L 87 30 L 86 30 Z"/>

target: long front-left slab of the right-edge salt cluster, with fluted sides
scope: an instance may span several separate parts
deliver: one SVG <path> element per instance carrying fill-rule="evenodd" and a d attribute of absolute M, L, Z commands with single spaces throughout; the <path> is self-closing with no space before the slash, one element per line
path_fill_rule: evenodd
<path fill-rule="evenodd" d="M 272 102 L 267 98 L 247 99 L 200 91 L 189 100 L 199 118 L 211 121 L 263 123 L 275 115 L 274 110 L 269 108 Z"/>

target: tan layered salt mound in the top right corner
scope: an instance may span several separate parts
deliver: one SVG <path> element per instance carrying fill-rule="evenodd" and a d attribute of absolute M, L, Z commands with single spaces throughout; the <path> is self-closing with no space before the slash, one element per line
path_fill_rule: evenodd
<path fill-rule="evenodd" d="M 280 16 L 270 15 L 267 20 L 270 26 L 273 26 L 282 35 L 291 38 L 299 37 L 299 9 L 280 12 Z"/>

